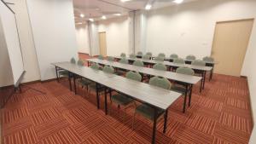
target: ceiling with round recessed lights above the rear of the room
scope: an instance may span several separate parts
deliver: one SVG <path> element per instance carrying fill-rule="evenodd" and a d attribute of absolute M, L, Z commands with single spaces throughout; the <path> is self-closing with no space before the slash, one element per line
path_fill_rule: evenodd
<path fill-rule="evenodd" d="M 152 9 L 160 9 L 175 5 L 173 0 L 129 0 L 121 2 L 120 0 L 73 0 L 74 15 L 76 23 L 81 23 L 90 18 L 102 20 L 102 15 L 108 18 L 117 17 L 117 14 L 128 14 L 128 12 L 138 9 L 145 9 L 147 3 L 153 3 Z M 183 3 L 189 3 L 196 0 L 183 0 Z M 84 18 L 79 15 L 84 14 Z"/>

